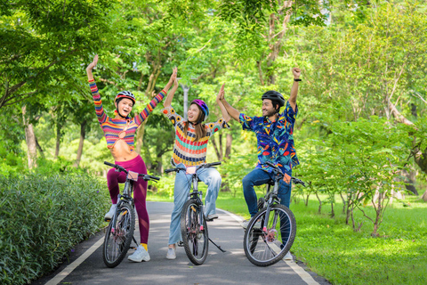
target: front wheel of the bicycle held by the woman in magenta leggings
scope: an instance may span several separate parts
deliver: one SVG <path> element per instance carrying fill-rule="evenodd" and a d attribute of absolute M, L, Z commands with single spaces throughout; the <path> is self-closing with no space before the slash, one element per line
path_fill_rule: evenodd
<path fill-rule="evenodd" d="M 102 248 L 102 258 L 110 268 L 119 265 L 131 246 L 135 230 L 135 212 L 128 203 L 117 209 L 116 223 L 114 218 L 109 222 Z"/>

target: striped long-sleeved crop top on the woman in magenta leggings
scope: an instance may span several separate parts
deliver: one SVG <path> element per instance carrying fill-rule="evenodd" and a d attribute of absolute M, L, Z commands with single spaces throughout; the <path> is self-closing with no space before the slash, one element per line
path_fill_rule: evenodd
<path fill-rule="evenodd" d="M 89 81 L 91 86 L 91 92 L 93 95 L 93 102 L 95 103 L 95 112 L 100 122 L 102 131 L 104 132 L 105 138 L 107 139 L 107 147 L 109 149 L 114 148 L 115 143 L 118 140 L 124 140 L 129 146 L 130 150 L 134 150 L 133 137 L 138 129 L 138 126 L 149 117 L 154 108 L 156 108 L 157 103 L 161 102 L 165 98 L 165 91 L 162 90 L 156 97 L 154 97 L 147 107 L 141 111 L 134 118 L 109 118 L 102 108 L 101 96 L 98 92 L 98 87 L 94 80 Z M 122 133 L 125 132 L 125 133 Z M 119 134 L 122 133 L 122 138 L 119 137 Z"/>

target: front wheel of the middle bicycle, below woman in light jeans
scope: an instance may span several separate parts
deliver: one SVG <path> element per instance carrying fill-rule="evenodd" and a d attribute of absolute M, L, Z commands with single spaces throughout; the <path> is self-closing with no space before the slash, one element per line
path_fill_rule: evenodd
<path fill-rule="evenodd" d="M 202 207 L 195 200 L 185 202 L 181 211 L 181 236 L 189 260 L 194 265 L 203 265 L 209 247 L 206 221 L 202 220 Z"/>

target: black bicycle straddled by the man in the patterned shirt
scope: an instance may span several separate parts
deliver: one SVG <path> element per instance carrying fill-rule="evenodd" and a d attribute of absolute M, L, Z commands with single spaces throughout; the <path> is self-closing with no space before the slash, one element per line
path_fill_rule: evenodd
<path fill-rule="evenodd" d="M 273 168 L 275 178 L 267 184 L 265 196 L 258 199 L 258 213 L 249 221 L 243 242 L 246 257 L 257 266 L 278 263 L 292 247 L 296 234 L 294 214 L 281 205 L 278 198 L 279 181 L 284 174 L 270 162 L 266 164 Z M 291 180 L 305 187 L 300 179 L 292 177 Z"/>

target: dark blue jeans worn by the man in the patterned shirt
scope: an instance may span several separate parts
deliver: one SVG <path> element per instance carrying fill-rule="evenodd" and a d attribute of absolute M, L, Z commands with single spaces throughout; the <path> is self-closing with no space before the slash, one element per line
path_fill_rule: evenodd
<path fill-rule="evenodd" d="M 274 174 L 268 173 L 261 168 L 255 168 L 243 177 L 243 194 L 245 195 L 247 208 L 249 209 L 249 214 L 251 214 L 251 216 L 255 216 L 258 212 L 258 199 L 256 198 L 254 186 L 260 186 L 268 183 L 270 179 L 274 179 Z M 291 203 L 291 188 L 292 183 L 287 184 L 283 180 L 280 181 L 278 186 L 278 198 L 280 198 L 280 204 L 287 208 L 289 208 L 289 204 Z"/>

